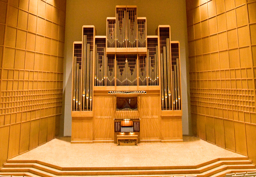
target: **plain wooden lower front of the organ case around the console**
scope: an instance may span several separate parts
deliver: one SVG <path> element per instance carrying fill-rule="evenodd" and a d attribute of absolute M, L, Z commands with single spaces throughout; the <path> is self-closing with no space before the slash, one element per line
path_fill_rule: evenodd
<path fill-rule="evenodd" d="M 94 96 L 97 111 L 93 111 L 92 117 L 72 117 L 72 143 L 114 141 L 114 118 L 131 117 L 140 118 L 139 138 L 144 142 L 182 140 L 181 116 L 173 116 L 171 111 L 171 116 L 161 117 L 158 95 L 139 96 L 138 111 L 115 111 L 115 99 L 108 94 Z"/>

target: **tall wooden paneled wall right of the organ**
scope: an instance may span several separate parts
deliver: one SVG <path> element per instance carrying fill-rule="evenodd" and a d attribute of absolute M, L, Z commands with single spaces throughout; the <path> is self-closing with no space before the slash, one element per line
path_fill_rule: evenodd
<path fill-rule="evenodd" d="M 256 0 L 187 0 L 193 133 L 256 163 Z"/>

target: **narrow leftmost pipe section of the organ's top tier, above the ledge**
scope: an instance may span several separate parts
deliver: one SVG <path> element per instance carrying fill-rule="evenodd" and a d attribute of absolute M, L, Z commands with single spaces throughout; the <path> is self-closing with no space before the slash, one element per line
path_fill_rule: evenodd
<path fill-rule="evenodd" d="M 107 47 L 116 47 L 116 20 L 107 20 Z"/>

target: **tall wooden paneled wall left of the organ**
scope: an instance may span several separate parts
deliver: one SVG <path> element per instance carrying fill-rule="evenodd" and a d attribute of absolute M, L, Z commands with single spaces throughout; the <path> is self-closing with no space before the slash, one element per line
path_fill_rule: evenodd
<path fill-rule="evenodd" d="M 65 0 L 0 0 L 0 167 L 59 135 Z"/>

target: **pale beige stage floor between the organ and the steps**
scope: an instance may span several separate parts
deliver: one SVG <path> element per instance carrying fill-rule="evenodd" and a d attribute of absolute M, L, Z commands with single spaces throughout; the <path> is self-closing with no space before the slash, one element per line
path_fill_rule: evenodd
<path fill-rule="evenodd" d="M 70 141 L 70 137 L 56 138 L 11 160 L 38 160 L 59 167 L 159 167 L 194 166 L 221 157 L 245 157 L 192 136 L 184 136 L 184 142 L 138 146 Z"/>

